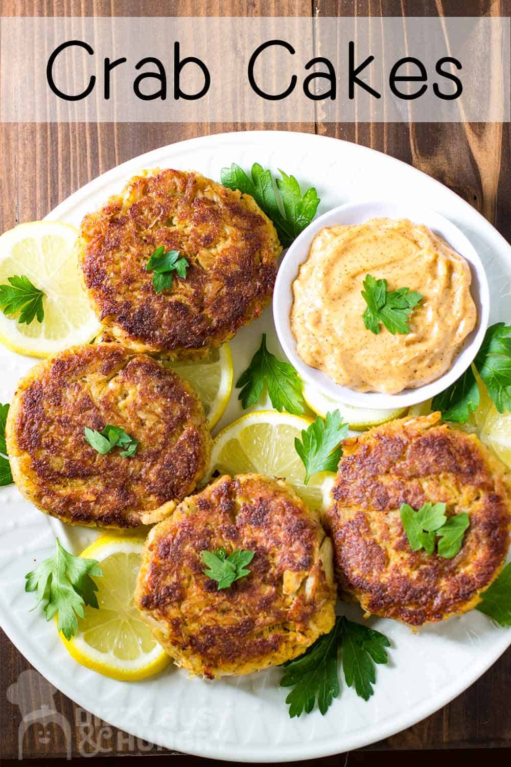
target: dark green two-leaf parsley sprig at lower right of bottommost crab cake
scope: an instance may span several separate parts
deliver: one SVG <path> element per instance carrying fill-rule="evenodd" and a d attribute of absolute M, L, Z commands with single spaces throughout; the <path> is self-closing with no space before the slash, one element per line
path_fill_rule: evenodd
<path fill-rule="evenodd" d="M 376 681 L 375 663 L 388 663 L 386 647 L 390 642 L 385 634 L 337 617 L 329 634 L 319 637 L 300 657 L 283 664 L 280 686 L 293 687 L 286 698 L 289 715 L 310 713 L 316 700 L 324 715 L 332 700 L 339 697 L 339 650 L 346 684 L 369 700 Z"/>

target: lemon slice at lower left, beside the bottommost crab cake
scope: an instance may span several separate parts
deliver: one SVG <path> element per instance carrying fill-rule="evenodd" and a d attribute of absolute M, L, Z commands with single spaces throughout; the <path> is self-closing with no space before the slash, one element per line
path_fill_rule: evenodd
<path fill-rule="evenodd" d="M 142 545 L 141 538 L 101 535 L 82 551 L 80 557 L 97 559 L 103 572 L 95 578 L 99 610 L 84 608 L 70 640 L 60 634 L 82 666 L 126 682 L 152 676 L 170 661 L 133 604 Z"/>

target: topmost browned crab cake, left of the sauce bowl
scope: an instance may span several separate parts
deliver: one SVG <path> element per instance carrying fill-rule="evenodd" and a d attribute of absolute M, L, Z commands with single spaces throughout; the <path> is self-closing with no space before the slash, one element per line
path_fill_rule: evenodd
<path fill-rule="evenodd" d="M 146 266 L 160 246 L 189 266 L 157 293 Z M 258 317 L 282 251 L 251 196 L 181 170 L 135 176 L 85 216 L 77 247 L 100 321 L 126 347 L 169 357 L 205 354 Z"/>

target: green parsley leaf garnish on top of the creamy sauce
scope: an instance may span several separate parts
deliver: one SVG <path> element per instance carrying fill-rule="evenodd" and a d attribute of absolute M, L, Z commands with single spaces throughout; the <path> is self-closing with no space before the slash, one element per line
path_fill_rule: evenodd
<path fill-rule="evenodd" d="M 388 291 L 387 280 L 377 280 L 372 275 L 367 275 L 363 284 L 362 296 L 367 304 L 362 314 L 365 327 L 378 335 L 382 322 L 393 335 L 409 333 L 408 318 L 424 296 L 410 288 Z"/>

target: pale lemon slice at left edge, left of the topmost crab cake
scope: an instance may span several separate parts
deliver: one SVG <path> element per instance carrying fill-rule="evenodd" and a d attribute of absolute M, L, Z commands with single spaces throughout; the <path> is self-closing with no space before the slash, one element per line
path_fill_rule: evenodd
<path fill-rule="evenodd" d="M 84 344 L 100 328 L 81 286 L 74 226 L 57 221 L 20 224 L 0 237 L 0 285 L 25 275 L 44 292 L 44 319 L 18 323 L 18 314 L 0 312 L 0 342 L 18 354 L 50 357 Z"/>

